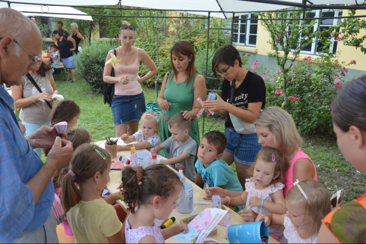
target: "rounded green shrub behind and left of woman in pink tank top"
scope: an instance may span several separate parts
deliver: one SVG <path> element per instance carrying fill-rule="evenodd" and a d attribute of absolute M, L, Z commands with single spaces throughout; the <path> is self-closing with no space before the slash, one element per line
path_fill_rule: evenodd
<path fill-rule="evenodd" d="M 102 68 L 108 52 L 119 43 L 92 42 L 82 45 L 82 52 L 74 56 L 78 73 L 90 86 L 93 93 L 103 93 Z"/>

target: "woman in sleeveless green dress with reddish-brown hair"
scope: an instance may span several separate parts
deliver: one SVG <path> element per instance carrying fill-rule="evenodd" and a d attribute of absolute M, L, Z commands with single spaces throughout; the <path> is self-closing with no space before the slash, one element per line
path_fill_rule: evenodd
<path fill-rule="evenodd" d="M 202 106 L 197 99 L 201 98 L 204 101 L 206 83 L 203 75 L 197 72 L 194 61 L 194 49 L 188 41 L 178 41 L 170 50 L 172 72 L 166 73 L 157 99 L 163 110 L 159 125 L 161 142 L 171 136 L 168 129 L 169 119 L 177 113 L 183 113 L 184 118 L 192 123 L 189 136 L 197 142 L 197 148 L 200 145 L 197 114 Z M 166 149 L 159 153 L 166 158 L 169 157 L 169 151 Z"/>

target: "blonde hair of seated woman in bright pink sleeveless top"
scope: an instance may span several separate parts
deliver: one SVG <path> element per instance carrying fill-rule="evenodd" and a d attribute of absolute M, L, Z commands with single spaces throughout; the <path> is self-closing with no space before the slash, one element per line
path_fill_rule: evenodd
<path fill-rule="evenodd" d="M 273 133 L 276 146 L 286 158 L 297 149 L 303 146 L 303 140 L 292 117 L 282 108 L 267 107 L 259 114 L 254 121 L 256 126 L 267 127 Z"/>

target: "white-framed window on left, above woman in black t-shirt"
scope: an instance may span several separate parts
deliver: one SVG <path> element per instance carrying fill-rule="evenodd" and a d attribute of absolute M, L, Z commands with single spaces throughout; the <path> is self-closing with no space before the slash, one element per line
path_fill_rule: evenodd
<path fill-rule="evenodd" d="M 245 46 L 257 45 L 258 16 L 254 14 L 234 17 L 233 43 Z"/>

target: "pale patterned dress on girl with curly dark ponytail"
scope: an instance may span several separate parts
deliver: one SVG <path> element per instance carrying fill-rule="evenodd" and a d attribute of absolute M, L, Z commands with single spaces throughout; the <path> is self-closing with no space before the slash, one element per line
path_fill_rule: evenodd
<path fill-rule="evenodd" d="M 165 243 L 164 237 L 160 232 L 159 228 L 154 224 L 154 226 L 141 226 L 137 229 L 131 229 L 128 219 L 131 214 L 127 217 L 126 225 L 124 227 L 124 235 L 126 238 L 126 243 L 139 243 L 140 240 L 145 236 L 153 236 L 156 243 Z"/>

